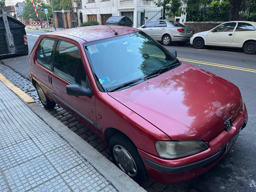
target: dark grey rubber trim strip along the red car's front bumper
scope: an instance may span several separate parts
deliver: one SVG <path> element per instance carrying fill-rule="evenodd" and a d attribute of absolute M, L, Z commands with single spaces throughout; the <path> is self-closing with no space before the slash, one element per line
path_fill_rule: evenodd
<path fill-rule="evenodd" d="M 145 162 L 150 165 L 151 167 L 157 169 L 157 170 L 160 170 L 161 172 L 165 172 L 165 173 L 179 173 L 179 172 L 185 172 L 186 170 L 190 170 L 190 169 L 193 169 L 193 168 L 197 168 L 197 167 L 200 167 L 200 166 L 204 166 L 214 160 L 216 160 L 219 156 L 221 155 L 221 152 L 218 152 L 216 153 L 215 155 L 207 158 L 207 159 L 204 159 L 202 161 L 198 161 L 196 163 L 192 163 L 192 164 L 189 164 L 189 165 L 184 165 L 184 166 L 179 166 L 179 167 L 166 167 L 166 166 L 162 166 L 162 165 L 159 165 L 157 163 L 154 163 L 148 159 L 145 159 Z"/>

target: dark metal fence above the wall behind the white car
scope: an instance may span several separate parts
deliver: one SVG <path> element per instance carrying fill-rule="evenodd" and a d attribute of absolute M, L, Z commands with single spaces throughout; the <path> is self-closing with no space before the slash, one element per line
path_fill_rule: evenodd
<path fill-rule="evenodd" d="M 230 10 L 222 7 L 202 7 L 199 10 L 187 12 L 187 22 L 227 22 Z M 256 13 L 249 7 L 241 7 L 238 20 L 256 21 Z"/>

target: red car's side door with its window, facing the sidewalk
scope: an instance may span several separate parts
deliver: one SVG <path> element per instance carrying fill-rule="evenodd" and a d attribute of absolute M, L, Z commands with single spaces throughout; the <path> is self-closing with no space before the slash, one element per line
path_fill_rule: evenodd
<path fill-rule="evenodd" d="M 78 84 L 87 89 L 90 86 L 87 72 L 84 69 L 84 59 L 81 58 L 79 45 L 72 40 L 58 38 L 52 66 L 52 89 L 62 105 L 77 114 L 83 123 L 91 127 L 95 132 L 96 111 L 95 94 L 92 96 L 71 96 L 66 92 L 69 84 Z M 96 126 L 97 127 L 97 126 Z"/>

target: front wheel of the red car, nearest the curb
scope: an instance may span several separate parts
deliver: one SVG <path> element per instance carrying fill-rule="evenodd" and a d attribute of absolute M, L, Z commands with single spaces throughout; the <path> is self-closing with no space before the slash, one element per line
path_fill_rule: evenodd
<path fill-rule="evenodd" d="M 146 168 L 137 147 L 121 133 L 115 134 L 109 142 L 109 148 L 115 164 L 133 180 L 141 183 L 147 179 Z"/>

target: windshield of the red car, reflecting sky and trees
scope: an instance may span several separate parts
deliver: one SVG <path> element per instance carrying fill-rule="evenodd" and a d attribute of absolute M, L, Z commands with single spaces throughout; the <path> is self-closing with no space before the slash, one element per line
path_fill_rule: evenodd
<path fill-rule="evenodd" d="M 84 44 L 98 87 L 111 92 L 131 87 L 180 62 L 143 32 L 135 32 Z M 164 67 L 167 70 L 159 70 Z M 154 74 L 156 72 L 156 74 Z M 120 89 L 119 89 L 120 88 Z"/>

